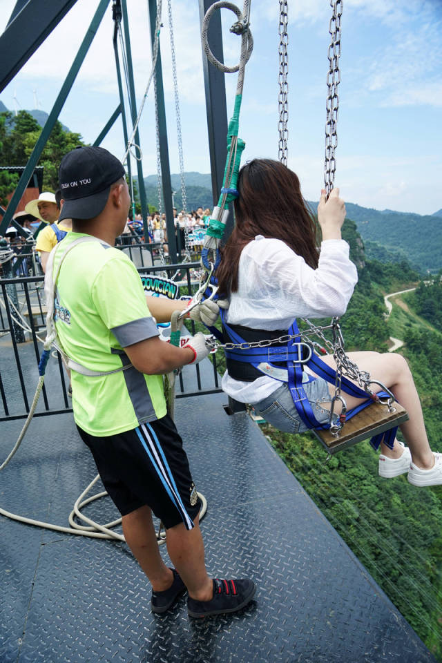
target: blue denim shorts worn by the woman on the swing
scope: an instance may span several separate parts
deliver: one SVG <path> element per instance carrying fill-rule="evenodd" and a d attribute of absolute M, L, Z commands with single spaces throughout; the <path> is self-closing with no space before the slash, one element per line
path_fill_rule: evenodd
<path fill-rule="evenodd" d="M 311 382 L 302 383 L 302 387 L 304 387 L 305 394 L 309 399 L 316 421 L 319 423 L 329 421 L 329 410 L 325 410 L 320 405 L 332 400 L 328 383 L 323 378 L 316 378 Z M 253 403 L 253 407 L 268 423 L 282 432 L 303 433 L 308 430 L 300 418 L 298 410 L 296 410 L 287 383 L 282 383 L 276 391 L 267 398 L 263 398 L 262 401 Z M 336 414 L 334 414 L 334 419 L 338 419 Z"/>

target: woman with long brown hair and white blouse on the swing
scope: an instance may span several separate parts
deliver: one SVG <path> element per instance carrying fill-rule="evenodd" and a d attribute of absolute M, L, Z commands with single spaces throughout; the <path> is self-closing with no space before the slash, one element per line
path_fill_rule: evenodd
<path fill-rule="evenodd" d="M 236 225 L 216 273 L 220 293 L 230 301 L 224 318 L 229 327 L 253 342 L 287 334 L 298 317 L 343 315 L 358 275 L 341 236 L 345 203 L 339 189 L 328 200 L 321 191 L 319 249 L 314 216 L 302 198 L 298 177 L 287 166 L 254 159 L 242 166 L 237 189 Z M 391 478 L 408 472 L 415 486 L 442 484 L 442 454 L 432 452 L 428 444 L 421 403 L 403 356 L 353 352 L 349 358 L 391 390 L 410 416 L 401 425 L 407 447 L 397 440 L 393 448 L 381 442 L 379 474 Z M 336 368 L 333 356 L 323 361 Z M 316 421 L 327 423 L 334 387 L 309 369 L 302 373 L 302 387 Z M 279 430 L 307 430 L 287 382 L 275 379 L 271 371 L 227 358 L 222 388 L 236 401 L 254 405 Z M 345 400 L 349 408 L 362 402 L 347 394 Z"/>

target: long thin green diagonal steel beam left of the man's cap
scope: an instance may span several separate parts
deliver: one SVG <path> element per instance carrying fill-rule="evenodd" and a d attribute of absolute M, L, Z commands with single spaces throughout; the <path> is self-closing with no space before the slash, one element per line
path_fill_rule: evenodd
<path fill-rule="evenodd" d="M 26 186 L 28 186 L 28 182 L 32 177 L 32 173 L 34 172 L 35 166 L 37 166 L 37 162 L 40 158 L 40 155 L 44 150 L 46 142 L 48 141 L 50 132 L 52 131 L 52 128 L 54 128 L 55 122 L 57 122 L 57 118 L 60 114 L 61 108 L 63 108 L 64 102 L 66 102 L 66 97 L 68 97 L 70 89 L 72 88 L 75 78 L 77 77 L 77 74 L 79 72 L 79 68 L 83 63 L 84 58 L 86 57 L 86 53 L 89 50 L 90 44 L 92 44 L 93 38 L 95 37 L 95 34 L 99 28 L 99 24 L 102 21 L 108 3 L 109 0 L 100 0 L 99 2 L 97 11 L 95 12 L 95 15 L 90 23 L 88 31 L 86 32 L 86 36 L 81 42 L 81 46 L 79 48 L 79 51 L 77 52 L 77 55 L 75 56 L 73 65 L 69 70 L 69 73 L 64 81 L 63 86 L 61 87 L 57 99 L 55 100 L 55 104 L 52 108 L 52 111 L 50 111 L 48 115 L 46 124 L 41 130 L 41 134 L 39 135 L 37 143 L 35 144 L 35 147 L 32 150 L 28 163 L 26 164 L 26 168 L 23 170 L 23 174 L 21 175 L 19 183 L 17 184 L 15 193 L 12 196 L 10 203 L 8 204 L 8 209 L 6 209 L 6 213 L 3 215 L 3 219 L 0 222 L 0 235 L 3 235 L 4 231 L 6 231 L 6 228 L 8 227 L 8 224 L 12 219 L 12 215 L 17 209 L 17 205 L 21 200 L 21 196 L 23 195 Z"/>

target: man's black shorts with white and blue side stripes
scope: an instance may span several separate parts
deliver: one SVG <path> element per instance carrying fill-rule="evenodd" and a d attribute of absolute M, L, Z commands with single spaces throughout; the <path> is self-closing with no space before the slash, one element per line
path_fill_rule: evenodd
<path fill-rule="evenodd" d="M 189 530 L 193 527 L 201 503 L 169 415 L 108 437 L 77 428 L 122 516 L 147 504 L 166 529 L 182 522 Z"/>

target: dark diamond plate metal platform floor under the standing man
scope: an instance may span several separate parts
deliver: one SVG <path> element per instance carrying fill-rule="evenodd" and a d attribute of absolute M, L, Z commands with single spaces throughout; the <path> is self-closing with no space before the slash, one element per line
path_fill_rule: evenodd
<path fill-rule="evenodd" d="M 194 622 L 182 597 L 154 616 L 150 586 L 124 544 L 0 517 L 1 663 L 434 661 L 258 426 L 246 414 L 227 416 L 225 401 L 180 399 L 175 419 L 209 505 L 209 572 L 253 577 L 256 600 Z M 0 459 L 22 425 L 2 423 Z M 72 415 L 34 419 L 0 475 L 0 505 L 66 526 L 95 473 Z M 86 514 L 105 522 L 115 510 L 106 497 Z"/>

